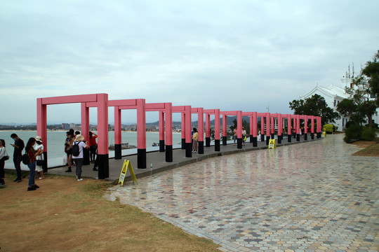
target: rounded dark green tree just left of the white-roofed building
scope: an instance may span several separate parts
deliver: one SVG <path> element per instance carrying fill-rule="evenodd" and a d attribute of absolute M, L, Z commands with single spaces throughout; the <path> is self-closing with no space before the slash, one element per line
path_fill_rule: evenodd
<path fill-rule="evenodd" d="M 321 116 L 321 122 L 324 124 L 335 123 L 335 119 L 340 118 L 319 94 L 313 94 L 305 100 L 293 100 L 289 104 L 295 115 Z"/>

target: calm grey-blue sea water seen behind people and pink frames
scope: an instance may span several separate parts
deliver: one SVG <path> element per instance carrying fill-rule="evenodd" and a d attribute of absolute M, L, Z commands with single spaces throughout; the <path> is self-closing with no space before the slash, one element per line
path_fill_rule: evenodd
<path fill-rule="evenodd" d="M 9 155 L 9 160 L 6 161 L 6 168 L 13 168 L 13 139 L 11 134 L 15 133 L 24 141 L 26 146 L 30 137 L 36 137 L 36 131 L 34 130 L 20 130 L 20 131 L 0 131 L 0 139 L 6 141 L 6 151 Z M 94 132 L 97 134 L 97 132 Z M 108 132 L 109 145 L 114 144 L 114 132 Z M 173 148 L 178 148 L 181 144 L 182 134 L 173 133 Z M 66 131 L 48 131 L 47 132 L 47 151 L 48 151 L 48 167 L 63 165 L 62 160 L 65 155 L 65 140 Z M 128 143 L 129 146 L 137 146 L 137 132 L 121 132 L 121 142 L 123 144 Z M 153 143 L 159 143 L 159 132 L 146 132 L 146 147 L 147 151 L 157 151 L 159 147 L 152 147 Z M 43 143 L 44 146 L 45 143 Z M 24 151 L 22 151 L 24 153 Z M 137 153 L 136 149 L 123 150 L 122 155 Z M 114 151 L 109 151 L 109 158 L 114 157 Z M 22 169 L 27 169 L 26 166 L 21 165 Z M 24 166 L 24 167 L 23 167 Z"/>

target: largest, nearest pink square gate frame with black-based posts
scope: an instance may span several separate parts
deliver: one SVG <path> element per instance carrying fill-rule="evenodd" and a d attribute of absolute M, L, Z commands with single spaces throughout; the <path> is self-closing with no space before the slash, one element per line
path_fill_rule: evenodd
<path fill-rule="evenodd" d="M 44 141 L 44 160 L 47 162 L 47 106 L 52 104 L 81 103 L 81 133 L 89 139 L 89 113 L 87 104 L 98 108 L 98 178 L 109 177 L 108 151 L 108 94 L 81 94 L 37 99 L 37 134 Z M 47 167 L 47 163 L 44 165 Z"/>

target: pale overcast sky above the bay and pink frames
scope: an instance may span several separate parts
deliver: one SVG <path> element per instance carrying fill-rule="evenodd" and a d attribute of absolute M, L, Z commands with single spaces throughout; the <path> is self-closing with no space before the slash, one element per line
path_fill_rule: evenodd
<path fill-rule="evenodd" d="M 378 10 L 377 0 L 1 0 L 0 124 L 35 123 L 38 97 L 102 92 L 290 113 L 288 102 L 317 83 L 342 87 L 349 64 L 372 59 Z M 79 123 L 79 108 L 48 106 L 48 123 Z"/>

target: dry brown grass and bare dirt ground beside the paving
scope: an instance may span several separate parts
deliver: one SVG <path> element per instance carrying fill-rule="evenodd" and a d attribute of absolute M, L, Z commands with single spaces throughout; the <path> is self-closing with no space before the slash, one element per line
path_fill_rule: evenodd
<path fill-rule="evenodd" d="M 1 251 L 218 251 L 136 207 L 102 198 L 109 183 L 62 176 L 0 188 Z"/>

